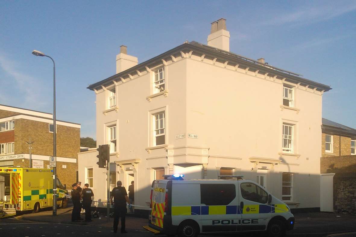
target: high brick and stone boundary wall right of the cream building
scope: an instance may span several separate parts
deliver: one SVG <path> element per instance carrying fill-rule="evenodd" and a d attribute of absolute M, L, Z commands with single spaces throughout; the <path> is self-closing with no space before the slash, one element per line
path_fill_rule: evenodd
<path fill-rule="evenodd" d="M 320 173 L 335 173 L 334 210 L 356 215 L 356 155 L 321 157 Z"/>

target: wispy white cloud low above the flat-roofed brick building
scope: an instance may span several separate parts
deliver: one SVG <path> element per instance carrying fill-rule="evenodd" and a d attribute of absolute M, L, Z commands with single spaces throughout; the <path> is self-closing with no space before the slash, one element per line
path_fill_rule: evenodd
<path fill-rule="evenodd" d="M 13 79 L 12 88 L 16 88 L 17 91 L 23 93 L 22 96 L 22 105 L 25 108 L 43 108 L 47 102 L 41 97 L 41 89 L 38 85 L 41 85 L 35 78 L 22 73 L 17 69 L 18 66 L 13 61 L 9 60 L 9 57 L 4 53 L 0 53 L 0 69 L 3 70 L 7 75 L 9 75 L 10 80 Z M 14 96 L 15 90 L 6 90 L 4 87 L 1 88 L 1 95 L 5 98 L 4 95 L 7 95 L 6 98 L 1 101 L 5 101 L 8 105 L 12 99 L 9 97 Z M 0 97 L 1 98 L 1 97 Z"/>

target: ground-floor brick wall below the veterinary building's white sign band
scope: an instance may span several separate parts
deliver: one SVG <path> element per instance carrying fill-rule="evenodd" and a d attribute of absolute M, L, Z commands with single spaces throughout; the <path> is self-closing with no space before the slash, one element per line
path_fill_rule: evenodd
<path fill-rule="evenodd" d="M 14 160 L 14 166 L 21 166 L 28 168 L 30 165 L 30 160 L 28 159 L 17 159 Z M 49 161 L 43 161 L 43 168 L 47 168 Z M 62 168 L 66 165 L 67 168 Z M 57 176 L 61 183 L 67 185 L 67 189 L 71 189 L 72 184 L 77 182 L 77 171 L 78 171 L 78 160 L 77 163 L 60 162 L 57 161 Z"/>

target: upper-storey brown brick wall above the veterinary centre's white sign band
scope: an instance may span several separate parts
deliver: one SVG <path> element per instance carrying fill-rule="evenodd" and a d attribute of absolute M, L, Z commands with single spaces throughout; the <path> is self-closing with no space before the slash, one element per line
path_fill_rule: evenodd
<path fill-rule="evenodd" d="M 28 153 L 25 141 L 34 141 L 32 154 L 53 155 L 53 133 L 48 123 L 27 119 L 15 120 L 15 153 Z M 80 152 L 80 129 L 57 125 L 57 156 L 78 158 Z"/>

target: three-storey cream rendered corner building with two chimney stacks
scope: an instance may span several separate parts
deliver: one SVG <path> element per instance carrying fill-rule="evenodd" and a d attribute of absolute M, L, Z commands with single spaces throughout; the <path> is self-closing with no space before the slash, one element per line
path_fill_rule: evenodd
<path fill-rule="evenodd" d="M 121 46 L 117 74 L 88 87 L 112 187 L 134 180 L 137 209 L 149 209 L 154 179 L 174 173 L 241 174 L 290 208 L 319 209 L 322 95 L 331 88 L 231 53 L 229 39 L 220 19 L 208 45 L 186 42 L 140 64 Z M 79 179 L 106 200 L 96 155 L 79 153 Z"/>

